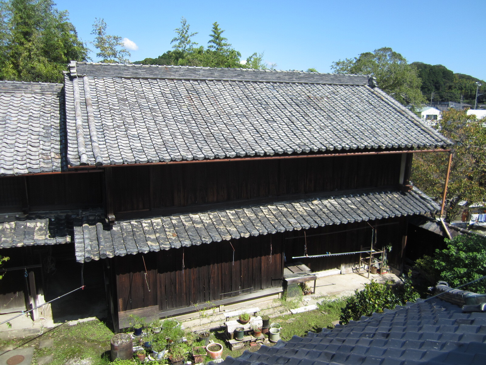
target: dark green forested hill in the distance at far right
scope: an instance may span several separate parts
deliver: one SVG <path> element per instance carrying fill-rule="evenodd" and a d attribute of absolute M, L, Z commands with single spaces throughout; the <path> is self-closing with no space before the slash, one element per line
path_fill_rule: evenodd
<path fill-rule="evenodd" d="M 463 73 L 453 73 L 442 65 L 428 65 L 422 62 L 412 63 L 417 70 L 418 76 L 422 79 L 420 90 L 430 101 L 431 93 L 434 92 L 434 101 L 455 101 L 459 102 L 461 95 L 463 101 L 474 105 L 476 97 L 476 82 L 479 81 L 483 86 L 480 89 L 478 103 L 485 103 L 486 82 Z"/>

